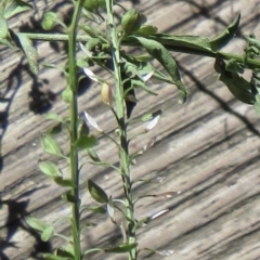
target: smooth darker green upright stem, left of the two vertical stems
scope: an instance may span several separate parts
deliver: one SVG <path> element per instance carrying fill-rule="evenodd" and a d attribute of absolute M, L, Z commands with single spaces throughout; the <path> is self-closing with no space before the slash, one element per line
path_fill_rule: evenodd
<path fill-rule="evenodd" d="M 74 183 L 72 187 L 72 194 L 75 197 L 73 204 L 73 246 L 75 260 L 81 260 L 81 246 L 80 246 L 80 203 L 79 203 L 79 170 L 78 170 L 78 151 L 75 146 L 78 134 L 78 100 L 77 100 L 77 70 L 76 70 L 76 35 L 78 21 L 81 13 L 83 0 L 76 2 L 73 21 L 68 28 L 68 68 L 69 68 L 69 88 L 73 94 L 72 102 L 69 104 L 70 116 L 70 174 Z"/>

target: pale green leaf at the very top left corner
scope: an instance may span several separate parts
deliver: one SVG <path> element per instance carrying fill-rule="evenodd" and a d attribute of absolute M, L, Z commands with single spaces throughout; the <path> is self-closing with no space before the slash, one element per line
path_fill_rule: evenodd
<path fill-rule="evenodd" d="M 22 0 L 9 0 L 6 1 L 6 5 L 4 6 L 4 17 L 9 20 L 18 13 L 32 9 L 34 8 L 31 4 L 26 3 Z"/>

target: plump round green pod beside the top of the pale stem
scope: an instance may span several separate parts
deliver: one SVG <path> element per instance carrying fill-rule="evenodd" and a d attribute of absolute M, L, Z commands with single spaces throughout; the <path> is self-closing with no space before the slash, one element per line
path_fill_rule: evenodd
<path fill-rule="evenodd" d="M 142 24 L 146 22 L 144 14 L 134 9 L 127 11 L 121 18 L 121 27 L 127 35 L 140 29 Z"/>

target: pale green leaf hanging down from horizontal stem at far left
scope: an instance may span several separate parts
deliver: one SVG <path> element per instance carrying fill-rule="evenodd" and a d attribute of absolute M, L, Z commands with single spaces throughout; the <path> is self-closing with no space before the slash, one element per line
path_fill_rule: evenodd
<path fill-rule="evenodd" d="M 22 34 L 16 34 L 20 44 L 26 55 L 26 58 L 29 63 L 30 69 L 34 74 L 38 74 L 38 53 L 32 44 L 32 41 L 26 36 Z"/>

